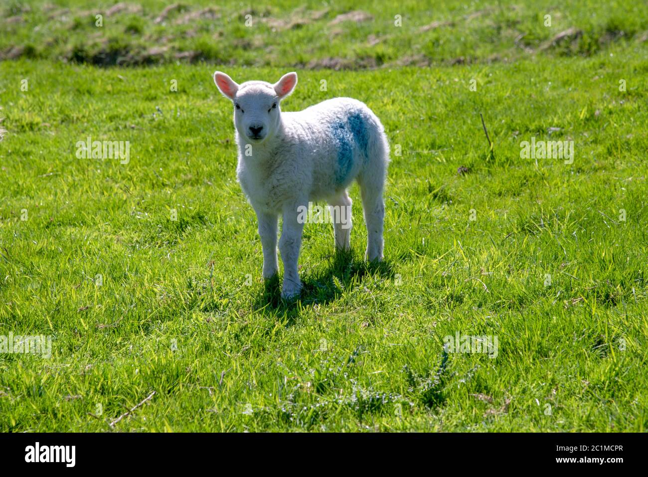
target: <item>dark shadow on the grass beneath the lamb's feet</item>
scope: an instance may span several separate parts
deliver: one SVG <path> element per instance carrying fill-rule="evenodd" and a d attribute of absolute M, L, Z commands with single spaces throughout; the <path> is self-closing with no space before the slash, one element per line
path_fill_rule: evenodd
<path fill-rule="evenodd" d="M 394 268 L 389 261 L 365 262 L 353 252 L 337 251 L 327 258 L 325 267 L 318 266 L 301 277 L 303 288 L 298 299 L 282 299 L 281 281 L 274 277 L 265 281 L 253 309 L 262 313 L 285 314 L 289 322 L 294 321 L 303 307 L 338 299 L 344 290 L 353 288 L 354 284 L 358 286 L 366 275 L 393 279 Z"/>

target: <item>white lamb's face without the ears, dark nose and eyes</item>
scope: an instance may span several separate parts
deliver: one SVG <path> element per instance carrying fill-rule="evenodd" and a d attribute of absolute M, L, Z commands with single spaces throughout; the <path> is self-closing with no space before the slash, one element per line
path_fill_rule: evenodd
<path fill-rule="evenodd" d="M 234 125 L 251 143 L 273 137 L 279 125 L 279 96 L 272 84 L 253 81 L 240 86 L 234 97 Z"/>

